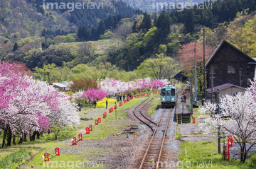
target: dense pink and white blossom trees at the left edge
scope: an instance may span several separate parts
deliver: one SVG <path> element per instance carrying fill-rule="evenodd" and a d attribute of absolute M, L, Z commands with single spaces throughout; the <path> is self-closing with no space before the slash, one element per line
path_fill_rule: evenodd
<path fill-rule="evenodd" d="M 75 105 L 69 96 L 46 82 L 36 81 L 18 71 L 20 65 L 0 63 L 0 129 L 2 146 L 11 145 L 11 135 L 31 134 L 54 124 L 79 124 Z"/>

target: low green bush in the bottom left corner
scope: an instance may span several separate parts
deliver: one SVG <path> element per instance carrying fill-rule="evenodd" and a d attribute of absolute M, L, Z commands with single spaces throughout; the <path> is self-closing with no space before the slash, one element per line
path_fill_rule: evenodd
<path fill-rule="evenodd" d="M 14 153 L 7 155 L 0 161 L 0 168 L 12 168 L 16 163 L 21 163 L 29 155 L 25 149 L 18 149 Z"/>

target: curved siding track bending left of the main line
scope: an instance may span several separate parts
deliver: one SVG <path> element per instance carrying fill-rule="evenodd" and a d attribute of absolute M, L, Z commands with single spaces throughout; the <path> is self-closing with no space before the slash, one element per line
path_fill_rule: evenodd
<path fill-rule="evenodd" d="M 151 100 L 153 100 L 154 98 L 147 98 L 146 100 L 144 100 L 142 103 L 140 103 L 137 107 L 135 107 L 133 114 L 135 117 L 137 117 L 137 119 L 139 121 L 141 121 L 142 123 L 146 124 L 146 126 L 148 126 L 151 131 L 153 131 L 153 127 L 154 125 L 156 125 L 155 122 L 151 121 L 148 117 L 146 117 L 145 115 L 143 115 L 142 110 L 143 108 L 151 102 Z"/>

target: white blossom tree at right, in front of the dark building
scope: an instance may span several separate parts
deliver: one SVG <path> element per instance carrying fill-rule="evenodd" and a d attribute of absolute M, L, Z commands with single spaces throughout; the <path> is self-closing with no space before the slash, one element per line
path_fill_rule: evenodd
<path fill-rule="evenodd" d="M 233 134 L 233 138 L 240 145 L 240 160 L 245 162 L 250 148 L 256 141 L 256 102 L 255 96 L 250 92 L 238 93 L 235 96 L 225 95 L 220 98 L 220 114 L 216 113 L 218 105 L 207 102 L 200 108 L 206 117 L 205 123 L 200 127 L 205 134 L 216 132 L 220 127 L 221 132 L 228 136 Z M 246 144 L 250 144 L 246 147 Z"/>

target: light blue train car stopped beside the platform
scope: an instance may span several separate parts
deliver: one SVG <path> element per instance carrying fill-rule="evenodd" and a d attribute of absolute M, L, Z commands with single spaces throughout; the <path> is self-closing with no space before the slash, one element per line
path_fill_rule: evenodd
<path fill-rule="evenodd" d="M 161 88 L 161 105 L 164 107 L 174 107 L 177 100 L 175 86 L 164 86 Z"/>

